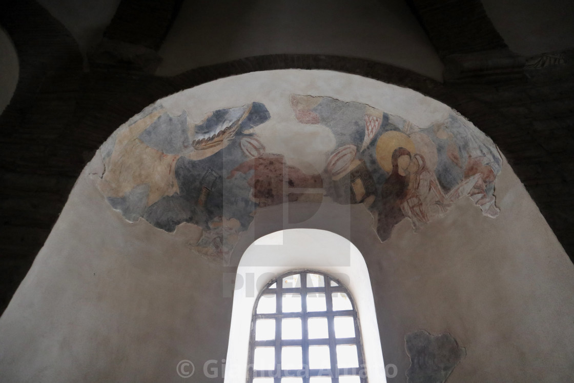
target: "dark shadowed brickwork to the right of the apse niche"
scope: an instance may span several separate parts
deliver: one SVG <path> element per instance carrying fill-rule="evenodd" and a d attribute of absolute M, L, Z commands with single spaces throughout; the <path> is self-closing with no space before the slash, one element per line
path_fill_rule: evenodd
<path fill-rule="evenodd" d="M 574 49 L 521 57 L 480 0 L 408 2 L 445 64 L 445 86 L 492 113 L 449 105 L 492 137 L 574 259 Z"/>

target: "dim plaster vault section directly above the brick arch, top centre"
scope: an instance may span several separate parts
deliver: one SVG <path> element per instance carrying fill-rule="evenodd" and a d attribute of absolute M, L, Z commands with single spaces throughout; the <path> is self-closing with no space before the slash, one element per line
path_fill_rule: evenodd
<path fill-rule="evenodd" d="M 187 0 L 160 49 L 157 73 L 273 53 L 360 57 L 436 80 L 443 72 L 401 0 Z"/>

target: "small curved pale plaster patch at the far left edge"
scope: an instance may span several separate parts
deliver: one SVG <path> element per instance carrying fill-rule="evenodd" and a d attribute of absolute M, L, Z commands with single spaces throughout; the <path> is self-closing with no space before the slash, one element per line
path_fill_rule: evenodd
<path fill-rule="evenodd" d="M 10 37 L 0 26 L 0 114 L 10 103 L 18 84 L 20 65 Z"/>

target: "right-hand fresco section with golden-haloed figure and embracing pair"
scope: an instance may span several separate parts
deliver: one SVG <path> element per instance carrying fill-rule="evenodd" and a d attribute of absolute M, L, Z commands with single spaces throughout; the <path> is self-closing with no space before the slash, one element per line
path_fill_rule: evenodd
<path fill-rule="evenodd" d="M 364 203 L 381 241 L 402 219 L 414 229 L 443 216 L 461 196 L 495 217 L 494 180 L 502 159 L 490 139 L 453 114 L 420 128 L 370 106 L 327 97 L 292 96 L 297 121 L 329 127 L 327 191 L 340 203 Z"/>

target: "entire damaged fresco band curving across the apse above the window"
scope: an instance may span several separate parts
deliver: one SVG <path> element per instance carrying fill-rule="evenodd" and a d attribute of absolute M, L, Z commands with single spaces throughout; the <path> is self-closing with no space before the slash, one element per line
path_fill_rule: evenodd
<path fill-rule="evenodd" d="M 257 208 L 285 202 L 364 204 L 381 241 L 402 219 L 418 230 L 463 196 L 484 215 L 498 215 L 494 181 L 502 158 L 460 115 L 418 127 L 329 97 L 292 95 L 285 106 L 288 121 L 260 102 L 190 121 L 185 111 L 171 115 L 152 105 L 100 148 L 106 171 L 98 187 L 129 222 L 145 219 L 168 232 L 184 223 L 201 227 L 193 250 L 222 261 Z M 328 134 L 321 145 L 319 134 Z M 324 160 L 303 168 L 305 156 Z"/>

